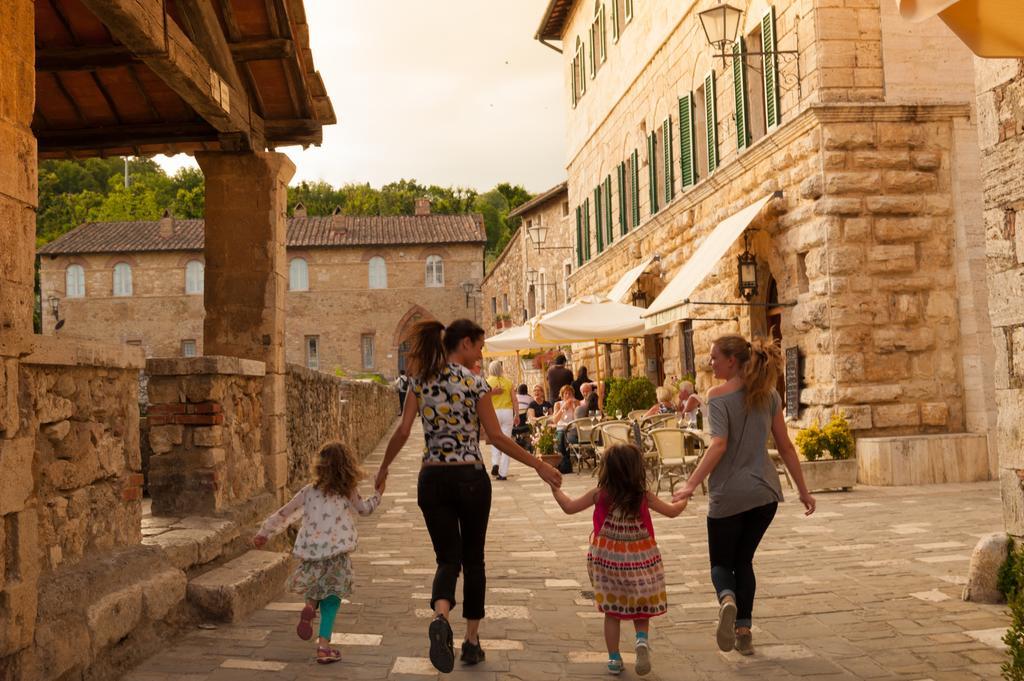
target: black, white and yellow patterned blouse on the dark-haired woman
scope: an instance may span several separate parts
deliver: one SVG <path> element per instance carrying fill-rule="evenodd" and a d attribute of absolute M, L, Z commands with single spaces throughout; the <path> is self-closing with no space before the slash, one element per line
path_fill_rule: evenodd
<path fill-rule="evenodd" d="M 413 379 L 423 420 L 423 460 L 433 463 L 481 462 L 476 402 L 490 386 L 465 367 L 453 363 L 427 383 Z"/>

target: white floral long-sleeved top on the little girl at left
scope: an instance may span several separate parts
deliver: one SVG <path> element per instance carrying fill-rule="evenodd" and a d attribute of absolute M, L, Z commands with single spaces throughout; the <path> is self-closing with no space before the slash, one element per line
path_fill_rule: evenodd
<path fill-rule="evenodd" d="M 380 503 L 381 496 L 376 492 L 369 499 L 362 499 L 355 492 L 346 498 L 325 494 L 307 484 L 266 519 L 259 535 L 276 535 L 301 517 L 302 528 L 295 538 L 292 553 L 303 560 L 323 560 L 355 550 L 357 536 L 352 509 L 359 515 L 370 515 Z"/>

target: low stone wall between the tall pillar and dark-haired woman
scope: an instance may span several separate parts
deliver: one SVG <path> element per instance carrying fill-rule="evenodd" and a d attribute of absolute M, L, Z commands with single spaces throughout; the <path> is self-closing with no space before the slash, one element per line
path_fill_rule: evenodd
<path fill-rule="evenodd" d="M 390 386 L 340 379 L 288 366 L 288 488 L 295 493 L 312 476 L 319 446 L 333 439 L 366 457 L 387 433 L 398 413 Z"/>

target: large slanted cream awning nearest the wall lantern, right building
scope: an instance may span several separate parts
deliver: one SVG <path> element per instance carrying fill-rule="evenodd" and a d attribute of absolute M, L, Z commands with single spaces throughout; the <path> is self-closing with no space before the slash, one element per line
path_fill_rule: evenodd
<path fill-rule="evenodd" d="M 690 295 L 700 286 L 705 278 L 718 266 L 722 256 L 728 252 L 739 235 L 743 233 L 743 230 L 751 225 L 765 204 L 779 196 L 781 194 L 778 191 L 770 194 L 735 215 L 722 220 L 718 226 L 712 229 L 689 260 L 665 287 L 660 295 L 647 307 L 643 316 L 648 331 L 665 327 L 673 322 L 681 322 L 690 316 L 686 304 Z"/>

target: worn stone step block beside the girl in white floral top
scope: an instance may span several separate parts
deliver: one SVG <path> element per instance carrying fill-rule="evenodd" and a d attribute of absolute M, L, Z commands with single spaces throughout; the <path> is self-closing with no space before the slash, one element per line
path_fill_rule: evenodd
<path fill-rule="evenodd" d="M 266 605 L 281 591 L 291 555 L 247 551 L 188 583 L 188 601 L 208 616 L 239 622 Z"/>

